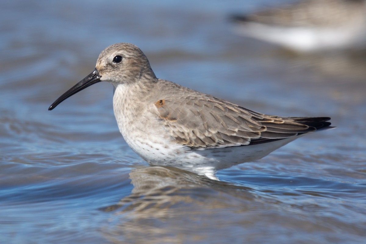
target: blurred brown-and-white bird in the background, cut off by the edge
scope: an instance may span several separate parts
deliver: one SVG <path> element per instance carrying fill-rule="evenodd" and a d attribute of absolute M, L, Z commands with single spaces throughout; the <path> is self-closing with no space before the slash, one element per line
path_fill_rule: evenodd
<path fill-rule="evenodd" d="M 238 34 L 300 52 L 366 47 L 365 0 L 303 0 L 231 19 Z"/>

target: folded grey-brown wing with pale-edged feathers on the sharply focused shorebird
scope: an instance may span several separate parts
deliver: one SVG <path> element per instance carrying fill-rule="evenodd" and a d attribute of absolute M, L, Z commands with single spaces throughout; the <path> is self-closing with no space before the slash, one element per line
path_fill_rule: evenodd
<path fill-rule="evenodd" d="M 201 93 L 154 106 L 176 142 L 195 149 L 265 143 L 330 125 L 330 118 L 267 116 Z"/>

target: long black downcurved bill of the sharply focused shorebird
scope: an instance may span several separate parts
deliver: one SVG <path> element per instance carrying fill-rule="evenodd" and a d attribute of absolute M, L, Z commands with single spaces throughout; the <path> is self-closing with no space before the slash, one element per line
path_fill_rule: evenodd
<path fill-rule="evenodd" d="M 79 91 L 85 89 L 86 87 L 101 82 L 100 78 L 101 76 L 99 75 L 97 68 L 95 68 L 95 70 L 91 72 L 88 76 L 82 79 L 75 86 L 71 87 L 70 90 L 66 91 L 66 93 L 62 94 L 59 98 L 57 98 L 57 100 L 53 102 L 51 106 L 49 106 L 48 110 L 56 108 L 56 106 L 59 105 L 62 101 L 64 101 L 66 98 L 71 97 L 72 95 L 78 93 Z"/>

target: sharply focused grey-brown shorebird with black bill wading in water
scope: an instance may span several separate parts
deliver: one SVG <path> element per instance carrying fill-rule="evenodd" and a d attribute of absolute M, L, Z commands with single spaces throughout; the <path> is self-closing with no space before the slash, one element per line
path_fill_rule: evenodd
<path fill-rule="evenodd" d="M 128 43 L 104 49 L 94 71 L 48 110 L 101 81 L 114 86 L 114 114 L 132 150 L 152 165 L 210 179 L 217 179 L 217 170 L 260 159 L 302 135 L 333 128 L 328 117 L 264 115 L 158 79 L 143 52 Z"/>

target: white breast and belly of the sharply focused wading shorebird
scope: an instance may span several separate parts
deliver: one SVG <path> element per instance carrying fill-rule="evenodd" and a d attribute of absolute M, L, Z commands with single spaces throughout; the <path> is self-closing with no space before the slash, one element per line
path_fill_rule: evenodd
<path fill-rule="evenodd" d="M 141 95 L 139 97 L 142 97 Z M 150 108 L 132 97 L 123 84 L 117 85 L 113 95 L 113 110 L 121 134 L 140 157 L 158 166 L 171 166 L 217 179 L 217 170 L 268 155 L 299 136 L 251 146 L 193 150 L 176 143 Z M 135 103 L 131 103 L 136 101 Z M 131 108 L 132 106 L 132 108 Z"/>

